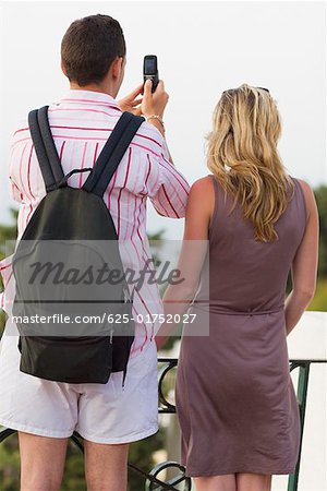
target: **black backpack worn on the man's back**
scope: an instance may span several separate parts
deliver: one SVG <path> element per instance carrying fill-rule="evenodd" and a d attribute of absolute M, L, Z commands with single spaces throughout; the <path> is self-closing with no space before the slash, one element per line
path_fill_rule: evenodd
<path fill-rule="evenodd" d="M 124 383 L 134 339 L 133 295 L 102 195 L 143 121 L 123 112 L 94 167 L 64 176 L 48 106 L 28 115 L 47 194 L 17 243 L 12 263 L 22 372 L 57 382 L 105 384 L 111 372 L 123 371 Z M 70 176 L 84 171 L 89 176 L 83 188 L 68 185 Z M 105 273 L 101 280 L 98 273 L 95 280 L 99 271 L 107 276 L 121 274 L 116 282 L 105 282 Z M 63 319 L 68 312 L 74 315 L 66 315 L 70 322 Z M 85 321 L 86 313 L 98 315 L 97 322 Z M 47 322 L 41 323 L 41 316 Z"/>

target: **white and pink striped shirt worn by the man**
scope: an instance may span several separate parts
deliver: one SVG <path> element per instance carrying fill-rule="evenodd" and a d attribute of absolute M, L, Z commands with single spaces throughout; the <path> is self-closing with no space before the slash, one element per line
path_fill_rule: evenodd
<path fill-rule="evenodd" d="M 58 104 L 49 107 L 49 122 L 64 173 L 94 165 L 120 116 L 121 109 L 113 97 L 90 91 L 70 89 Z M 73 175 L 69 185 L 82 187 L 87 176 L 88 172 Z M 13 135 L 10 181 L 12 195 L 20 203 L 20 239 L 46 194 L 27 120 Z M 144 122 L 104 194 L 125 268 L 142 271 L 152 258 L 146 235 L 147 197 L 159 214 L 181 218 L 185 215 L 189 190 L 184 176 L 169 161 L 165 139 L 154 125 Z M 10 267 L 10 259 L 0 264 L 5 290 L 12 280 Z M 134 295 L 133 310 L 140 322 L 131 357 L 141 352 L 159 328 L 152 316 L 162 312 L 158 286 L 145 282 Z"/>

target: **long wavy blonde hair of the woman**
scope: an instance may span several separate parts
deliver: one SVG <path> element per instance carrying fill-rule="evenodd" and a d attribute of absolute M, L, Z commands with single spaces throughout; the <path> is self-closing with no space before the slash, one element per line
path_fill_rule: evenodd
<path fill-rule="evenodd" d="M 231 212 L 240 200 L 255 239 L 265 242 L 278 239 L 274 224 L 287 207 L 289 185 L 294 193 L 277 151 L 280 134 L 279 112 L 269 92 L 243 84 L 222 93 L 207 135 L 207 166 L 225 192 L 234 195 Z"/>

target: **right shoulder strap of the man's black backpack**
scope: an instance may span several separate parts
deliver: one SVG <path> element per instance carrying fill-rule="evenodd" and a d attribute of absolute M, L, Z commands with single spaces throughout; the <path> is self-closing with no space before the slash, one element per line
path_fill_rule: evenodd
<path fill-rule="evenodd" d="M 124 156 L 131 141 L 145 118 L 134 116 L 131 112 L 123 112 L 107 140 L 97 161 L 94 171 L 86 179 L 83 189 L 102 196 L 110 179 Z"/>

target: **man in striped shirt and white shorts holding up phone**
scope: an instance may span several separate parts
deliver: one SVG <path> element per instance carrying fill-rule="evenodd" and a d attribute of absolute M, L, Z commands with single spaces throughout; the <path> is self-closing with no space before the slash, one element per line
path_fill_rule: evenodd
<path fill-rule="evenodd" d="M 123 110 L 143 115 L 142 123 L 120 163 L 104 200 L 123 241 L 124 266 L 142 271 L 150 258 L 146 236 L 146 199 L 160 215 L 181 218 L 189 184 L 174 168 L 165 140 L 164 82 L 152 82 L 116 100 L 126 63 L 119 23 L 107 15 L 77 20 L 61 46 L 62 71 L 70 91 L 49 107 L 49 122 L 62 168 L 90 167 Z M 142 96 L 143 94 L 143 96 Z M 69 185 L 83 185 L 87 172 L 75 173 Z M 14 133 L 10 161 L 13 197 L 20 203 L 19 239 L 46 194 L 26 121 Z M 13 276 L 5 270 L 4 296 L 10 303 Z M 157 421 L 157 327 L 152 314 L 162 313 L 157 285 L 144 283 L 134 296 L 137 318 L 128 375 L 112 373 L 107 384 L 68 384 L 37 379 L 20 371 L 17 337 L 4 335 L 0 351 L 0 424 L 19 431 L 21 491 L 59 490 L 68 438 L 84 438 L 85 474 L 89 491 L 126 489 L 129 443 L 154 434 Z M 5 331 L 9 328 L 10 320 Z"/>

